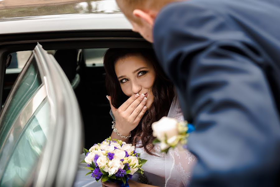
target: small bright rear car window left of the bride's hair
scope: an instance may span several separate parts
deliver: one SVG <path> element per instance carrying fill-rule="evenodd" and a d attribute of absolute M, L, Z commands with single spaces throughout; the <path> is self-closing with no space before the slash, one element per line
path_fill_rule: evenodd
<path fill-rule="evenodd" d="M 107 49 L 83 49 L 86 66 L 103 66 L 103 55 Z"/>

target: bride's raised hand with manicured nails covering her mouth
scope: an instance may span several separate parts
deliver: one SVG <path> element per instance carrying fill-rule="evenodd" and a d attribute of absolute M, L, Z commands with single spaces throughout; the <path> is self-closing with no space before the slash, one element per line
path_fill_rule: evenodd
<path fill-rule="evenodd" d="M 145 106 L 147 98 L 145 94 L 138 93 L 132 95 L 119 108 L 115 108 L 111 103 L 111 97 L 107 96 L 112 113 L 116 121 L 116 128 L 122 135 L 129 135 L 129 133 L 137 127 L 141 118 L 144 116 L 147 107 Z"/>

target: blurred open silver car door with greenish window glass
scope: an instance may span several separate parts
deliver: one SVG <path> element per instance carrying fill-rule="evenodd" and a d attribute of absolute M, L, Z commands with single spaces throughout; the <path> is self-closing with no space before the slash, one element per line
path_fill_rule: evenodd
<path fill-rule="evenodd" d="M 0 186 L 72 186 L 82 127 L 66 75 L 38 44 L 0 114 Z"/>

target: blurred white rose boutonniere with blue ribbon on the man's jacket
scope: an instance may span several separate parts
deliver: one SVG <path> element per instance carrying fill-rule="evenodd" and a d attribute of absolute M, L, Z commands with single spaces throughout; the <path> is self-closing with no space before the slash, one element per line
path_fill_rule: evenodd
<path fill-rule="evenodd" d="M 189 133 L 194 131 L 194 127 L 187 121 L 178 122 L 170 117 L 162 117 L 158 122 L 154 122 L 152 129 L 153 136 L 156 137 L 153 143 L 159 142 L 160 150 L 165 153 L 171 147 L 185 147 Z"/>

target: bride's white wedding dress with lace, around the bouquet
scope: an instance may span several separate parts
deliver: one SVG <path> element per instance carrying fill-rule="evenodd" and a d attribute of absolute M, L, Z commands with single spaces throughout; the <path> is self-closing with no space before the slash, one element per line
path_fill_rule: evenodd
<path fill-rule="evenodd" d="M 178 121 L 183 121 L 183 113 L 179 107 L 177 96 L 174 97 L 171 104 L 168 117 L 174 117 Z M 136 144 L 139 145 L 141 141 Z M 156 144 L 152 152 L 156 156 L 149 155 L 144 148 L 136 148 L 136 152 L 140 153 L 142 159 L 148 160 L 143 166 L 144 176 L 135 173 L 132 180 L 141 183 L 150 184 L 154 186 L 172 186 L 172 187 L 186 187 L 189 185 L 191 178 L 191 170 L 195 164 L 196 157 L 187 150 L 178 150 L 178 148 L 170 149 L 167 154 L 162 153 L 159 144 Z M 84 154 L 80 156 L 80 160 L 84 159 Z M 100 182 L 96 182 L 90 175 L 84 176 L 88 170 L 84 169 L 87 164 L 80 163 L 77 178 L 75 180 L 75 187 L 99 187 L 102 186 Z"/>

